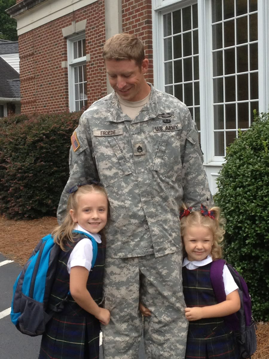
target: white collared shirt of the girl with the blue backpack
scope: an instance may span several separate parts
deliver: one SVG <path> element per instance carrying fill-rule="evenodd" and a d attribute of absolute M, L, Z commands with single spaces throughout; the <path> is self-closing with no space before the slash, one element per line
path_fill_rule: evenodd
<path fill-rule="evenodd" d="M 74 229 L 90 234 L 90 236 L 93 237 L 97 243 L 101 243 L 100 234 L 88 232 L 88 230 L 83 229 L 79 224 L 77 224 Z M 85 267 L 88 271 L 90 271 L 92 259 L 93 245 L 91 244 L 91 240 L 87 237 L 83 238 L 76 244 L 70 254 L 67 262 L 68 273 L 70 274 L 70 269 L 75 266 Z"/>

